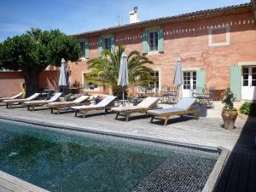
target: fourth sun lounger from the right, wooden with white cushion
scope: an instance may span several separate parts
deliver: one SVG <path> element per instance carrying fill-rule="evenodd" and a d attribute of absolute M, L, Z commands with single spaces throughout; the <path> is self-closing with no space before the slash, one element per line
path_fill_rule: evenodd
<path fill-rule="evenodd" d="M 50 108 L 51 113 L 53 113 L 54 110 L 57 110 L 58 114 L 60 114 L 61 108 L 70 108 L 73 106 L 83 105 L 84 102 L 90 103 L 88 101 L 89 98 L 90 98 L 90 96 L 80 96 L 73 102 L 50 102 L 46 105 L 46 107 Z"/>

